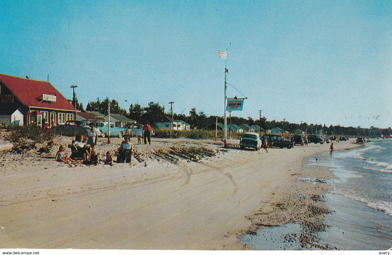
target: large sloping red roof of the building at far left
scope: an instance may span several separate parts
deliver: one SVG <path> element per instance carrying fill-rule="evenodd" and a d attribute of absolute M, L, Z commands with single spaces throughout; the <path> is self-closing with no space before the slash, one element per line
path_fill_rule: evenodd
<path fill-rule="evenodd" d="M 25 79 L 0 74 L 0 81 L 28 107 L 78 111 L 47 81 Z M 42 101 L 42 94 L 55 95 L 56 102 Z"/>

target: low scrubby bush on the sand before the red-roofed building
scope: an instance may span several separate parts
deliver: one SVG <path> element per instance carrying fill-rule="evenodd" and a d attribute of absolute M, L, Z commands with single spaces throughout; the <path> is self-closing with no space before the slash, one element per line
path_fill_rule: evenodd
<path fill-rule="evenodd" d="M 53 130 L 43 129 L 34 125 L 8 127 L 8 134 L 5 135 L 5 139 L 12 143 L 24 143 L 27 139 L 45 143 L 53 140 L 55 137 Z"/>

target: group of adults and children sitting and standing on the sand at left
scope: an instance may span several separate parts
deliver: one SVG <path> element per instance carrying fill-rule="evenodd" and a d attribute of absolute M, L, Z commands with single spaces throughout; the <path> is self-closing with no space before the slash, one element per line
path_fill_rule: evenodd
<path fill-rule="evenodd" d="M 79 156 L 81 156 L 81 160 L 74 160 L 69 157 L 65 153 L 65 147 L 60 145 L 58 151 L 56 152 L 56 156 L 54 160 L 58 162 L 65 163 L 83 163 L 85 165 L 97 165 L 99 163 L 99 156 L 95 150 L 95 145 L 97 143 L 98 135 L 100 131 L 98 128 L 94 128 L 94 123 L 90 123 L 86 132 L 82 134 L 78 134 L 75 136 L 75 140 L 73 141 L 71 146 L 74 146 L 74 149 L 78 152 Z M 139 131 L 140 130 L 140 131 Z M 139 132 L 138 132 L 139 131 Z M 138 144 L 142 144 L 141 136 L 142 132 L 144 134 L 144 144 L 151 144 L 150 138 L 151 126 L 148 123 L 145 123 L 142 128 L 138 128 L 136 130 L 136 138 L 138 140 Z M 84 143 L 84 135 L 87 136 L 87 142 Z M 114 150 L 117 154 L 117 163 L 131 163 L 132 157 L 134 156 L 133 144 L 130 142 L 129 136 L 124 136 L 124 141 L 122 141 L 121 145 Z M 103 160 L 104 165 L 113 165 L 113 154 L 111 151 L 107 151 L 105 154 L 105 159 Z"/>

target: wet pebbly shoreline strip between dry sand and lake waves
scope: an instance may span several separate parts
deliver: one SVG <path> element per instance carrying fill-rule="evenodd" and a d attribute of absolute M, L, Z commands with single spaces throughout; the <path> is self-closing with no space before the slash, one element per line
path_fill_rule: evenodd
<path fill-rule="evenodd" d="M 353 150 L 364 146 L 364 144 L 352 144 L 355 146 L 339 148 L 334 152 Z M 260 209 L 260 213 L 250 217 L 253 225 L 247 235 L 241 235 L 242 238 L 239 241 L 245 242 L 247 250 L 267 250 L 260 249 L 260 247 L 268 247 L 268 250 L 314 250 L 315 248 L 318 250 L 340 250 L 336 246 L 331 247 L 328 244 L 319 243 L 321 241 L 318 237 L 319 233 L 323 233 L 329 228 L 325 224 L 325 216 L 334 213 L 328 209 L 325 203 L 324 196 L 333 190 L 332 185 L 328 184 L 328 180 L 337 178 L 329 166 L 309 165 L 310 160 L 305 163 L 306 159 L 313 158 L 314 162 L 317 162 L 316 159 L 321 153 L 323 152 L 302 159 L 301 171 L 298 174 L 301 177 L 293 180 L 291 188 L 282 190 L 285 198 L 279 201 L 271 212 L 263 212 Z M 323 156 L 328 157 L 328 155 Z M 305 186 L 298 184 L 300 182 Z M 292 192 L 293 190 L 295 192 Z M 280 229 L 269 229 L 271 227 Z M 261 237 L 252 237 L 252 235 L 258 235 L 256 231 L 261 233 Z M 280 235 L 277 237 L 278 234 Z M 254 245 L 257 245 L 258 242 L 259 249 L 254 249 Z M 260 245 L 260 242 L 264 242 L 264 244 Z"/>

